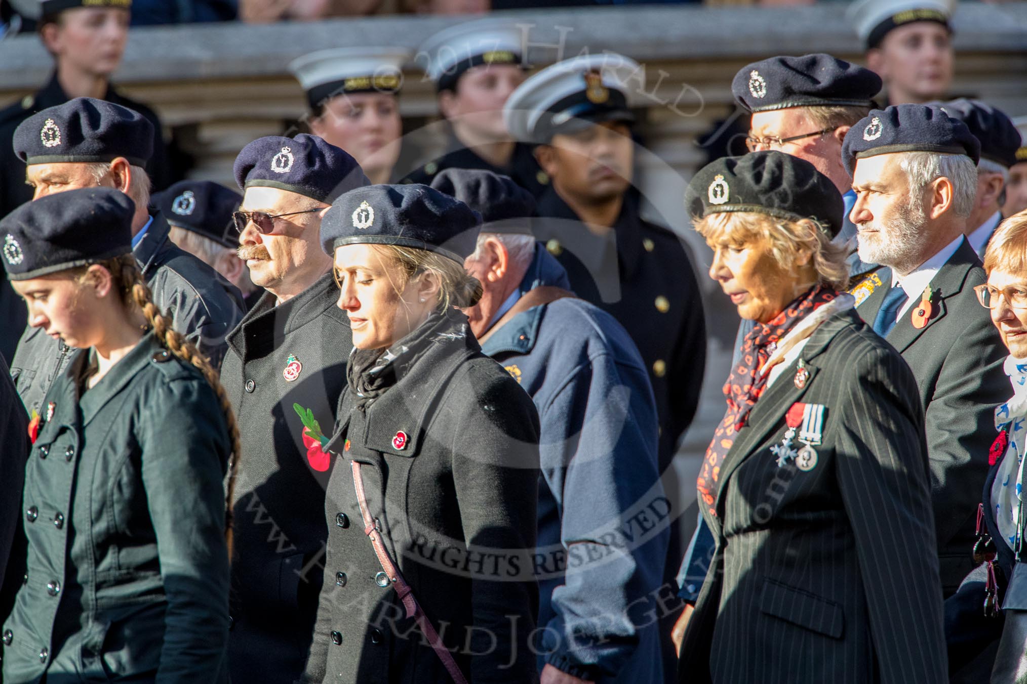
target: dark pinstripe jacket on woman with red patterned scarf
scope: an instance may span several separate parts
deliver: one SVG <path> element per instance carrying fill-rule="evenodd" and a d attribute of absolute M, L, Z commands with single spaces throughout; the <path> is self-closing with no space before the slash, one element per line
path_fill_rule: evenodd
<path fill-rule="evenodd" d="M 825 321 L 720 469 L 717 544 L 684 683 L 947 682 L 923 412 L 898 352 L 852 310 Z M 811 470 L 778 468 L 786 413 L 826 407 Z"/>

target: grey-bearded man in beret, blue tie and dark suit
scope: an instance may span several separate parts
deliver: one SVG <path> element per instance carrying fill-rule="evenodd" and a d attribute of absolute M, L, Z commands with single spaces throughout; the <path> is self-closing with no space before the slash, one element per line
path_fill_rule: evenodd
<path fill-rule="evenodd" d="M 842 146 L 860 258 L 882 265 L 865 281 L 858 311 L 916 376 L 946 597 L 974 568 L 994 407 L 1009 394 L 1005 350 L 973 289 L 984 270 L 963 237 L 979 157 L 965 124 L 923 105 L 871 111 Z"/>

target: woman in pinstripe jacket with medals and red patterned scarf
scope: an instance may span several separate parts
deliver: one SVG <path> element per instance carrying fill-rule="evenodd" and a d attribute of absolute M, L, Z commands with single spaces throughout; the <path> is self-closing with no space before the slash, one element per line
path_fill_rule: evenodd
<path fill-rule="evenodd" d="M 842 207 L 781 152 L 689 185 L 710 276 L 756 325 L 698 476 L 716 551 L 682 619 L 682 682 L 946 681 L 922 409 L 842 292 Z"/>

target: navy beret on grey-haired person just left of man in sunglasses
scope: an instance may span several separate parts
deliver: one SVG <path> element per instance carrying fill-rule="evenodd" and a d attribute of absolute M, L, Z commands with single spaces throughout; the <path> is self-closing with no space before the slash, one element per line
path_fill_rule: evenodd
<path fill-rule="evenodd" d="M 242 195 L 220 183 L 179 180 L 154 194 L 151 203 L 172 226 L 202 235 L 225 247 L 239 246 L 232 213 L 242 203 Z"/>

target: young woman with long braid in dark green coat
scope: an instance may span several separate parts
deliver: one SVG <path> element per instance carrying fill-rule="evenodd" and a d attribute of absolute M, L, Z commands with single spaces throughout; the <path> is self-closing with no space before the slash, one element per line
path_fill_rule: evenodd
<path fill-rule="evenodd" d="M 151 300 L 134 210 L 91 188 L 0 222 L 29 324 L 76 350 L 29 426 L 7 570 L 24 581 L 0 601 L 8 684 L 227 681 L 223 482 L 238 431 L 215 371 Z"/>

